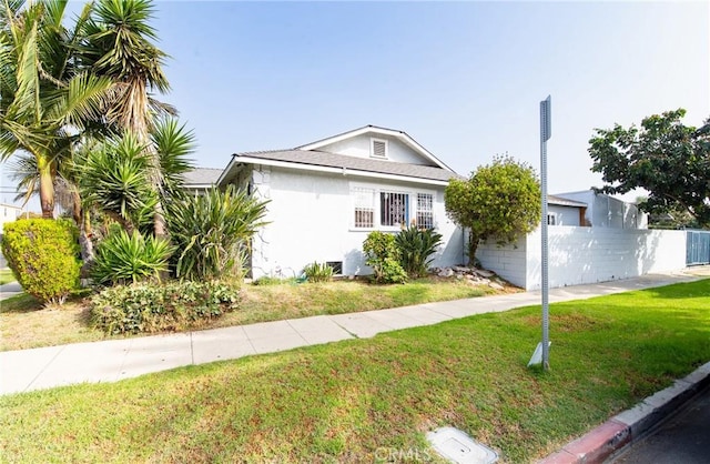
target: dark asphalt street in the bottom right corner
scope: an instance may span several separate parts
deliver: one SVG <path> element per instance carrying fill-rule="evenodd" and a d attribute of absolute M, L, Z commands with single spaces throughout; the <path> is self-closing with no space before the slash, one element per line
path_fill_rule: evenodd
<path fill-rule="evenodd" d="M 610 464 L 710 463 L 710 385 Z"/>

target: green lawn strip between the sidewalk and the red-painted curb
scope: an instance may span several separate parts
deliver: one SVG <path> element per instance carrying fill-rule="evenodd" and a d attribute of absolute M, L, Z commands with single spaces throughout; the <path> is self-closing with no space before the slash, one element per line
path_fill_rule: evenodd
<path fill-rule="evenodd" d="M 710 280 L 0 397 L 7 462 L 373 462 L 453 425 L 536 461 L 710 360 Z"/>

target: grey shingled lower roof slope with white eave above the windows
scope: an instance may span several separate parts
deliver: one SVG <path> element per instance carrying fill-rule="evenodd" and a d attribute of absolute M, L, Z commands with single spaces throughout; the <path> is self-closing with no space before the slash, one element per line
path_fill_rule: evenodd
<path fill-rule="evenodd" d="M 455 172 L 419 164 L 393 163 L 390 161 L 348 157 L 317 150 L 278 150 L 235 153 L 232 162 L 220 178 L 220 182 L 229 176 L 235 164 L 264 164 L 308 171 L 333 172 L 343 175 L 359 175 L 405 181 L 424 181 L 426 183 L 448 183 L 449 179 L 463 179 Z"/>

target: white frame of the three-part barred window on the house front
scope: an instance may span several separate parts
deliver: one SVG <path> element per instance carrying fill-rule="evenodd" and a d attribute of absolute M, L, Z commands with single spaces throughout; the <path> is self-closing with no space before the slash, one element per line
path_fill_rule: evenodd
<path fill-rule="evenodd" d="M 405 194 L 407 195 L 407 224 L 405 226 L 409 226 L 413 220 L 417 219 L 418 213 L 418 204 L 417 198 L 419 194 L 427 194 L 432 196 L 432 228 L 436 229 L 436 198 L 437 192 L 434 190 L 426 189 L 406 189 L 394 185 L 378 185 L 378 184 L 369 184 L 369 183 L 358 183 L 351 182 L 349 183 L 349 196 L 351 196 L 351 211 L 349 215 L 349 229 L 353 232 L 372 232 L 372 231 L 383 231 L 383 232 L 398 232 L 402 230 L 400 224 L 396 225 L 383 225 L 382 224 L 382 204 L 381 204 L 381 194 L 382 193 L 395 193 L 395 194 Z M 355 198 L 355 192 L 369 191 L 372 192 L 372 198 L 374 202 L 374 221 L 372 228 L 362 228 L 355 225 L 355 208 L 357 202 Z"/>

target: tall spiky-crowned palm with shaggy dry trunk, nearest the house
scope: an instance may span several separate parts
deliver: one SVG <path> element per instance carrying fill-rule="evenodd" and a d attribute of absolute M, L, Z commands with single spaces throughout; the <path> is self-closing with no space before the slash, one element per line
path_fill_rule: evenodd
<path fill-rule="evenodd" d="M 168 56 L 152 43 L 156 39 L 149 24 L 152 16 L 150 0 L 99 0 L 84 24 L 84 40 L 79 47 L 83 64 L 114 82 L 108 122 L 130 131 L 146 148 L 154 117 L 175 113 L 151 95 L 152 91 L 165 93 L 170 89 L 162 69 Z M 149 152 L 149 160 L 150 184 L 160 193 L 160 160 L 155 152 Z M 166 234 L 161 202 L 155 203 L 154 232 L 158 236 Z"/>

